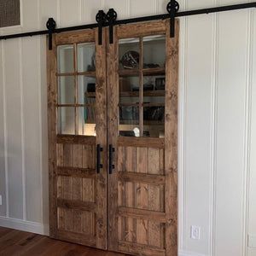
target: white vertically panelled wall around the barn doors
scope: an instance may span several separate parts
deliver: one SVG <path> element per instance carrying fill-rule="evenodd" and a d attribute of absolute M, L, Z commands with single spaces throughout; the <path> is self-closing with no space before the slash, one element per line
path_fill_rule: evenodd
<path fill-rule="evenodd" d="M 1 34 L 166 12 L 163 0 L 21 0 L 22 26 Z M 180 0 L 198 9 L 246 0 Z M 256 10 L 181 19 L 180 255 L 256 255 Z M 46 44 L 0 47 L 0 225 L 47 234 Z M 191 240 L 191 225 L 201 240 Z M 250 238 L 249 241 L 247 238 Z M 247 244 L 250 247 L 247 247 Z"/>

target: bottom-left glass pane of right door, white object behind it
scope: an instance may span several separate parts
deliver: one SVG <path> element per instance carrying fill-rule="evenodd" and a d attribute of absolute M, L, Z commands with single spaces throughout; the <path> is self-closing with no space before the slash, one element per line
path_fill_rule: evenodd
<path fill-rule="evenodd" d="M 119 107 L 119 135 L 125 137 L 140 136 L 138 107 Z"/>

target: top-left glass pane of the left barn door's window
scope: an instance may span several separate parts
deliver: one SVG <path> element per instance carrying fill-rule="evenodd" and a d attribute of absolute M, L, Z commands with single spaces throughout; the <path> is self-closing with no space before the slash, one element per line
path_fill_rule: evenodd
<path fill-rule="evenodd" d="M 73 72 L 73 45 L 58 46 L 58 73 Z"/>

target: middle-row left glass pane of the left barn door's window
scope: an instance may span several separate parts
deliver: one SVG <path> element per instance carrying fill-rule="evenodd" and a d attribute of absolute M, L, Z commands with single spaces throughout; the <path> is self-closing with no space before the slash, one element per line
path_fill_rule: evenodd
<path fill-rule="evenodd" d="M 58 79 L 58 103 L 59 104 L 74 104 L 75 90 L 74 77 L 64 76 Z"/>

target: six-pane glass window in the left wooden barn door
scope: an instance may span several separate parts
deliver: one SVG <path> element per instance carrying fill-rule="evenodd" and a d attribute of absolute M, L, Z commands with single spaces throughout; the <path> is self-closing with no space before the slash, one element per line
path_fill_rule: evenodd
<path fill-rule="evenodd" d="M 96 136 L 96 47 L 57 49 L 57 133 Z"/>

